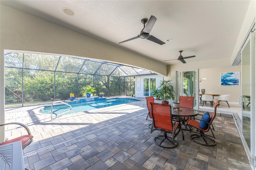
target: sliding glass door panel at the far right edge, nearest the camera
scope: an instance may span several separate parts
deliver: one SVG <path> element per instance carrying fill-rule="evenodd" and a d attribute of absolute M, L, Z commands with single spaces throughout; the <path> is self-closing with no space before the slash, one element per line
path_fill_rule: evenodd
<path fill-rule="evenodd" d="M 255 33 L 251 32 L 242 47 L 242 134 L 248 146 L 247 152 L 255 153 Z"/>

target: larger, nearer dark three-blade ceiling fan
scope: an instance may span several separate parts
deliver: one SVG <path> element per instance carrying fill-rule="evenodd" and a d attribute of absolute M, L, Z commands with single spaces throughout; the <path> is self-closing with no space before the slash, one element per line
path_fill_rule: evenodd
<path fill-rule="evenodd" d="M 150 16 L 149 20 L 147 18 L 143 18 L 141 20 L 141 22 L 142 22 L 142 24 L 144 24 L 144 28 L 141 30 L 140 35 L 138 35 L 138 36 L 136 36 L 134 38 L 130 38 L 130 39 L 125 40 L 125 41 L 120 42 L 120 43 L 128 42 L 130 40 L 134 40 L 134 39 L 137 39 L 137 38 L 142 38 L 142 39 L 147 39 L 147 40 L 150 40 L 152 42 L 158 43 L 160 45 L 165 44 L 165 42 L 162 42 L 158 38 L 156 38 L 156 37 L 154 37 L 152 35 L 149 35 L 150 31 L 152 30 L 152 28 L 153 28 L 153 26 L 154 26 L 154 24 L 156 22 L 156 17 L 155 16 Z M 146 24 L 146 26 L 145 26 L 145 24 Z"/>

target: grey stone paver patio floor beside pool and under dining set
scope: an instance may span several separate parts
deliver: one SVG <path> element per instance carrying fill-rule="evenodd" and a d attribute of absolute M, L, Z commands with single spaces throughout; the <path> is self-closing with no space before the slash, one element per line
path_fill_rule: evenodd
<path fill-rule="evenodd" d="M 35 115 L 36 106 L 8 109 L 6 123 L 23 123 L 34 135 L 24 149 L 25 167 L 31 170 L 252 169 L 234 119 L 220 116 L 221 109 L 213 123 L 216 146 L 196 144 L 184 131 L 185 140 L 180 133 L 178 146 L 167 149 L 154 143 L 161 132 L 150 133 L 146 100 L 139 99 L 52 121 L 50 115 Z M 25 133 L 22 128 L 6 128 L 7 138 Z"/>

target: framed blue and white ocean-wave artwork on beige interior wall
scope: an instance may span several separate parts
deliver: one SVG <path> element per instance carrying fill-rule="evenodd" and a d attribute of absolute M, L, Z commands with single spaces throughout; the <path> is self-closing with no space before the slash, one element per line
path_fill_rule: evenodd
<path fill-rule="evenodd" d="M 240 86 L 240 72 L 220 73 L 220 86 Z"/>

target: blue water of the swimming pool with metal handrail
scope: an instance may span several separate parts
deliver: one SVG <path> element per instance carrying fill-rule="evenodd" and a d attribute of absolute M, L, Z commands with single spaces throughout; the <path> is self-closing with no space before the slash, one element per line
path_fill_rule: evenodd
<path fill-rule="evenodd" d="M 70 107 L 68 105 L 54 105 L 52 113 L 54 115 L 67 115 L 72 113 L 78 113 L 83 111 L 90 111 L 93 109 L 99 109 L 102 107 L 109 107 L 114 105 L 120 105 L 124 103 L 130 103 L 134 101 L 139 101 L 136 99 L 125 99 L 125 98 L 113 98 L 113 99 L 105 99 L 105 100 L 99 100 L 99 101 L 91 101 L 86 103 L 76 103 L 72 104 L 73 102 L 70 102 L 69 105 L 72 106 L 72 110 L 70 110 Z M 70 111 L 69 111 L 70 110 Z M 64 112 L 67 112 L 65 114 L 62 114 Z M 40 113 L 45 114 L 51 114 L 51 106 L 45 106 L 44 109 L 41 109 L 39 111 Z"/>

